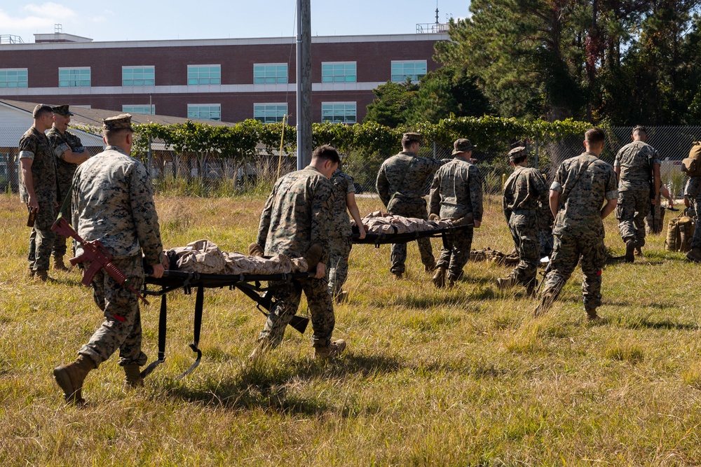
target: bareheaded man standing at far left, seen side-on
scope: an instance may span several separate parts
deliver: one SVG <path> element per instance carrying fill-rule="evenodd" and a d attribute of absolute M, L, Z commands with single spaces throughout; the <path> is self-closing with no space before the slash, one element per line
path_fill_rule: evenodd
<path fill-rule="evenodd" d="M 18 145 L 22 172 L 20 199 L 30 212 L 36 212 L 29 234 L 29 275 L 45 281 L 56 237 L 51 230 L 56 220 L 56 158 L 44 134 L 53 122 L 53 111 L 50 106 L 39 104 L 32 116 L 34 125 L 22 135 Z"/>

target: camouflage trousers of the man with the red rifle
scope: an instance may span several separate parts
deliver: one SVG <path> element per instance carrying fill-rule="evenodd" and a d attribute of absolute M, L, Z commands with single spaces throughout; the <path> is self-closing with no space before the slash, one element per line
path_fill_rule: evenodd
<path fill-rule="evenodd" d="M 114 260 L 114 265 L 126 274 L 136 290 L 142 287 L 144 266 L 139 256 Z M 119 286 L 101 270 L 93 279 L 93 299 L 104 312 L 104 321 L 78 353 L 90 357 L 97 366 L 119 349 L 119 365 L 145 365 L 147 355 L 141 350 L 141 313 L 134 293 Z"/>

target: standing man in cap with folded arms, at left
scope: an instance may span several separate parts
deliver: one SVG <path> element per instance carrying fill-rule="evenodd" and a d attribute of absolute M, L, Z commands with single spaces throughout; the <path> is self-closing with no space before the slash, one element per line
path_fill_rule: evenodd
<path fill-rule="evenodd" d="M 53 148 L 56 156 L 56 176 L 58 181 L 57 202 L 59 207 L 63 206 L 66 200 L 67 206 L 63 208 L 63 216 L 70 221 L 71 203 L 69 190 L 73 183 L 73 175 L 76 173 L 78 165 L 88 159 L 86 148 L 81 144 L 81 139 L 72 132 L 67 131 L 73 113 L 69 111 L 69 106 L 53 107 L 54 123 L 46 132 L 46 137 Z M 56 235 L 56 242 L 53 245 L 51 256 L 54 258 L 54 269 L 67 270 L 63 264 L 63 256 L 66 254 L 66 238 Z"/>

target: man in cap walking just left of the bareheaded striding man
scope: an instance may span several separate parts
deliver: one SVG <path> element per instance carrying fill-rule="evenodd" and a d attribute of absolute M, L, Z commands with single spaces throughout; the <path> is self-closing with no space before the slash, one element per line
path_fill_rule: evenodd
<path fill-rule="evenodd" d="M 497 279 L 497 286 L 505 289 L 521 284 L 532 293 L 540 260 L 540 217 L 548 204 L 548 189 L 538 169 L 528 167 L 524 146 L 513 148 L 509 160 L 514 173 L 504 185 L 502 204 L 519 263 L 508 277 Z"/>

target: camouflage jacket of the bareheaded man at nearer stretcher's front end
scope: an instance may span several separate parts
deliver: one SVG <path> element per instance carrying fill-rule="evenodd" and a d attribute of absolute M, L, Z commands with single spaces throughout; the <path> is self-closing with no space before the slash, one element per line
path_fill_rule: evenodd
<path fill-rule="evenodd" d="M 328 264 L 332 193 L 329 179 L 311 165 L 280 177 L 258 227 L 256 243 L 265 255 L 284 253 L 299 258 L 316 243 L 323 251 L 322 263 Z"/>

